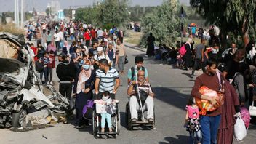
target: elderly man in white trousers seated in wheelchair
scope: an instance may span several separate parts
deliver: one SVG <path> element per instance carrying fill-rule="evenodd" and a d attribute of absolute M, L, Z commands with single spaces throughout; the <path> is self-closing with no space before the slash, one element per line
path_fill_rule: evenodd
<path fill-rule="evenodd" d="M 127 94 L 129 97 L 129 108 L 131 111 L 132 122 L 137 121 L 137 110 L 139 110 L 139 97 L 137 90 L 140 92 L 140 99 L 144 103 L 143 110 L 147 109 L 148 122 L 153 122 L 153 97 L 154 94 L 151 89 L 151 85 L 145 81 L 145 71 L 139 70 L 137 72 L 137 81 L 131 81 L 129 83 Z"/>

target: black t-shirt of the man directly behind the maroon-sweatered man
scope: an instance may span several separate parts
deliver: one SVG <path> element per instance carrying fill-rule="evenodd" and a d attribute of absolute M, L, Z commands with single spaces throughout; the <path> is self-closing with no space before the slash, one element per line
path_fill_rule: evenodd
<path fill-rule="evenodd" d="M 230 60 L 230 61 L 228 61 L 228 63 L 225 63 L 225 67 L 224 67 L 223 71 L 228 73 L 227 76 L 225 77 L 225 79 L 227 79 L 227 80 L 233 79 L 233 76 L 235 76 L 238 69 L 239 69 L 239 62 Z"/>

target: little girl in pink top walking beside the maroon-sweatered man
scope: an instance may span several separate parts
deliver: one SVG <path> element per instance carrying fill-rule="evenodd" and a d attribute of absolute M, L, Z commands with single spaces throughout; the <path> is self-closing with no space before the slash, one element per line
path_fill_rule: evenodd
<path fill-rule="evenodd" d="M 201 144 L 201 127 L 199 122 L 199 107 L 194 103 L 193 97 L 190 97 L 185 109 L 185 124 L 187 131 L 190 135 L 190 143 L 194 144 L 194 135 L 196 134 L 196 143 Z"/>

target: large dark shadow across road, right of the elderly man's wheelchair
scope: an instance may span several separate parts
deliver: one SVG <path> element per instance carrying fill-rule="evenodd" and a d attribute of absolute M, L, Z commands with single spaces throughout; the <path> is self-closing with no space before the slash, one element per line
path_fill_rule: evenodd
<path fill-rule="evenodd" d="M 167 87 L 153 87 L 153 92 L 156 94 L 156 99 L 185 110 L 185 105 L 190 95 L 177 92 L 179 90 L 190 93 L 191 87 L 172 87 L 172 89 Z"/>

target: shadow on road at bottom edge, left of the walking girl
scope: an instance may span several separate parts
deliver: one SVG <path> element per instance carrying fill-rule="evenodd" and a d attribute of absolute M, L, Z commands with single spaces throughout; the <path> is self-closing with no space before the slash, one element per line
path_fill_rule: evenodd
<path fill-rule="evenodd" d="M 159 144 L 188 143 L 189 141 L 189 137 L 185 135 L 176 135 L 176 137 L 164 137 L 164 140 L 167 142 L 159 142 Z"/>

